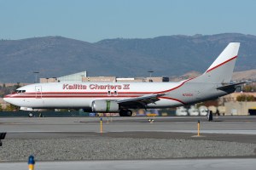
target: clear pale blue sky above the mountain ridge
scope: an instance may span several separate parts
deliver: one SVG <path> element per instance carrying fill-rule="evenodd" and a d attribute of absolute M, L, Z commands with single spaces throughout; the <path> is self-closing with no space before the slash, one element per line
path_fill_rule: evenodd
<path fill-rule="evenodd" d="M 0 0 L 0 39 L 256 35 L 254 0 Z"/>

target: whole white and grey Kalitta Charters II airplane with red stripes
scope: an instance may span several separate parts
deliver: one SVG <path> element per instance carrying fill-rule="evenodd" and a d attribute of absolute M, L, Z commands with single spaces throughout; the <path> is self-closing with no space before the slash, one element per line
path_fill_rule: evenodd
<path fill-rule="evenodd" d="M 230 83 L 240 42 L 230 42 L 201 76 L 181 82 L 52 82 L 17 88 L 4 100 L 34 109 L 84 109 L 132 116 L 131 109 L 192 105 L 236 91 Z"/>

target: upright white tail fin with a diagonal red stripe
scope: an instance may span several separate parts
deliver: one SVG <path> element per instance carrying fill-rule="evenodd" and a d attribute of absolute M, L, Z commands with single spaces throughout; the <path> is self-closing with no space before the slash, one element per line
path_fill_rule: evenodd
<path fill-rule="evenodd" d="M 230 83 L 240 42 L 230 42 L 207 71 L 191 82 Z"/>

